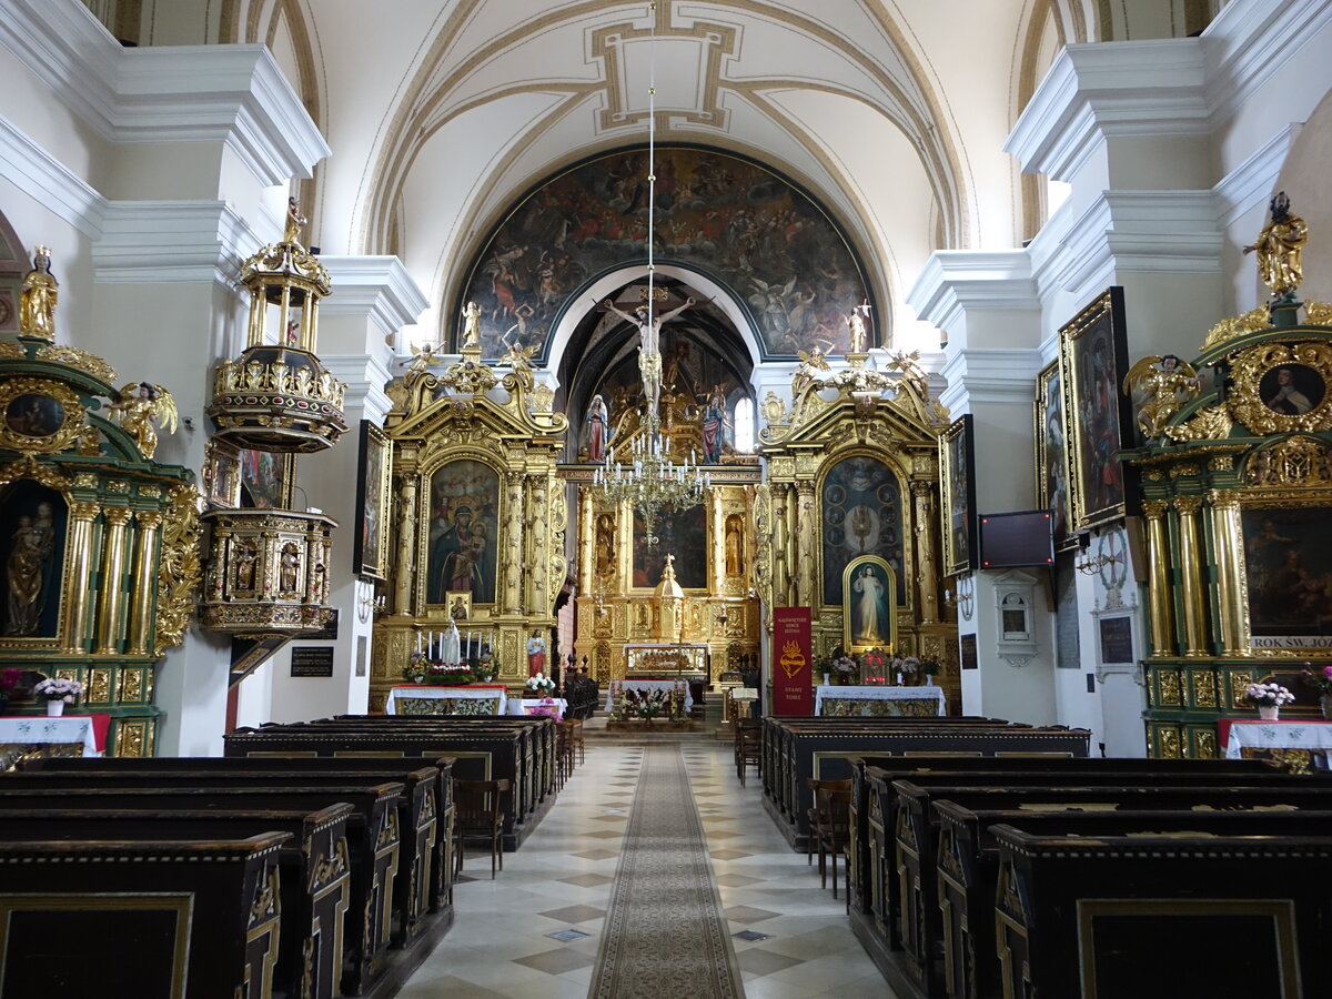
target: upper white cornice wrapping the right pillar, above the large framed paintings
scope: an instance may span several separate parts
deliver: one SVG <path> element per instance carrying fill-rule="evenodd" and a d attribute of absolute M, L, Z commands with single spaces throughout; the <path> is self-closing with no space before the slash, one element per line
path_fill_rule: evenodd
<path fill-rule="evenodd" d="M 1071 180 L 1103 139 L 1211 132 L 1200 39 L 1068 45 L 1004 151 L 1023 173 Z"/>

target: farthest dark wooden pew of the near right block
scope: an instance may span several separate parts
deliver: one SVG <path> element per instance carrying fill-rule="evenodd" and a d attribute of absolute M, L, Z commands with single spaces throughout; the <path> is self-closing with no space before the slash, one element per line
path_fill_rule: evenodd
<path fill-rule="evenodd" d="M 1143 774 L 1144 782 L 1152 774 L 1211 774 L 1235 775 L 1245 779 L 1275 774 L 1280 771 L 1271 761 L 1259 759 L 1104 759 L 1096 757 L 1086 758 L 1044 758 L 1044 757 L 856 757 L 851 763 L 851 836 L 847 846 L 847 884 L 850 891 L 850 906 L 852 912 L 862 915 L 872 914 L 880 927 L 886 920 L 884 896 L 879 892 L 874 896 L 870 872 L 887 864 L 892 859 L 891 836 L 884 830 L 894 827 L 892 819 L 896 811 L 896 794 L 892 791 L 892 781 L 912 779 L 916 775 L 948 773 L 960 774 L 987 774 L 987 773 L 1048 773 L 1051 779 L 1067 782 L 1074 773 L 1088 774 Z M 866 779 L 866 770 L 875 769 L 875 785 L 871 787 Z M 967 783 L 968 778 L 960 778 L 958 783 Z M 871 801 L 871 794 L 878 795 L 878 801 Z M 871 825 L 878 835 L 871 838 Z M 874 843 L 879 844 L 878 851 L 872 851 Z M 882 852 L 883 844 L 890 844 L 888 852 Z M 882 932 L 888 934 L 887 928 Z"/>

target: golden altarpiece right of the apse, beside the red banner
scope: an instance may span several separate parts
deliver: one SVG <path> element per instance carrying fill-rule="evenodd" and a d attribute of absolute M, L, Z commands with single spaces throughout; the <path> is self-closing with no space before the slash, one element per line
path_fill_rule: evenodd
<path fill-rule="evenodd" d="M 958 703 L 958 629 L 940 601 L 939 433 L 948 414 L 914 356 L 892 357 L 883 372 L 866 361 L 847 354 L 834 370 L 815 353 L 795 372 L 791 412 L 773 393 L 762 406 L 757 586 L 765 606 L 811 607 L 814 654 L 829 655 L 847 634 L 847 567 L 882 559 L 898 587 L 895 643 L 884 649 L 936 659 L 944 669 L 935 682 Z"/>

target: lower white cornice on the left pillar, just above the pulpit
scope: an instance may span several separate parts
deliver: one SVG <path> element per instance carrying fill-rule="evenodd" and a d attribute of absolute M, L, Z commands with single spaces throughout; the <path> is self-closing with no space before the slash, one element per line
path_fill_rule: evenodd
<path fill-rule="evenodd" d="M 92 245 L 99 284 L 198 284 L 236 289 L 261 240 L 226 201 L 111 201 Z"/>

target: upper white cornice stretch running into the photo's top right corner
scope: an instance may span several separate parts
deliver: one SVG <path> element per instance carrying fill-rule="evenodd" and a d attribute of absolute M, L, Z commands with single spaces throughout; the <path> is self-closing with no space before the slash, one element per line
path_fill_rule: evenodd
<path fill-rule="evenodd" d="M 1207 25 L 1207 103 L 1213 123 L 1235 116 L 1300 49 L 1332 25 L 1327 0 L 1244 0 Z"/>

